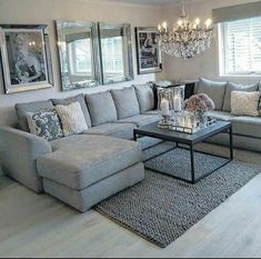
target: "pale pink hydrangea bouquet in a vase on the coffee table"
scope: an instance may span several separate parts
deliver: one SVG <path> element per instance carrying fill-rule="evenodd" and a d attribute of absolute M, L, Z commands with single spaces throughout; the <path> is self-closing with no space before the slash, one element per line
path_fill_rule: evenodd
<path fill-rule="evenodd" d="M 184 109 L 197 114 L 200 128 L 208 124 L 208 111 L 214 110 L 214 102 L 204 93 L 192 96 L 184 101 Z"/>

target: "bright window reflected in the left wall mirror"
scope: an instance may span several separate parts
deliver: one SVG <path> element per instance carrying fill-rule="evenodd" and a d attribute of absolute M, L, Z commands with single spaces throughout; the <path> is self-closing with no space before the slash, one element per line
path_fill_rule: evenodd
<path fill-rule="evenodd" d="M 69 43 L 69 54 L 72 74 L 92 76 L 92 50 L 90 39 L 74 40 Z"/>

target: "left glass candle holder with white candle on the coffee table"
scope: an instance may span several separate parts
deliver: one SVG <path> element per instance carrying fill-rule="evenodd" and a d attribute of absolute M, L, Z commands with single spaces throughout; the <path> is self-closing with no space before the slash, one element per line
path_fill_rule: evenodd
<path fill-rule="evenodd" d="M 158 127 L 161 129 L 169 129 L 173 118 L 173 91 L 159 88 L 158 96 L 158 111 L 160 116 Z"/>

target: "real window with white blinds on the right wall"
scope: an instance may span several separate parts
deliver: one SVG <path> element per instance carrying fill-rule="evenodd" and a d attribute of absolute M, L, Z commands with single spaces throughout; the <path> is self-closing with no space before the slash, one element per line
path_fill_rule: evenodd
<path fill-rule="evenodd" d="M 220 23 L 221 76 L 261 76 L 261 17 Z"/>

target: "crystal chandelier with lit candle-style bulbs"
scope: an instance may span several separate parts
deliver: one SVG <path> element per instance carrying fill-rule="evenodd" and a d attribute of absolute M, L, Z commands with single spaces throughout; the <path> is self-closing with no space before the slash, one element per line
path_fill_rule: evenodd
<path fill-rule="evenodd" d="M 173 30 L 168 30 L 167 22 L 159 24 L 161 51 L 177 58 L 194 58 L 212 47 L 213 27 L 208 19 L 203 27 L 200 19 L 189 20 L 185 14 L 184 0 L 182 0 L 182 13 Z"/>

